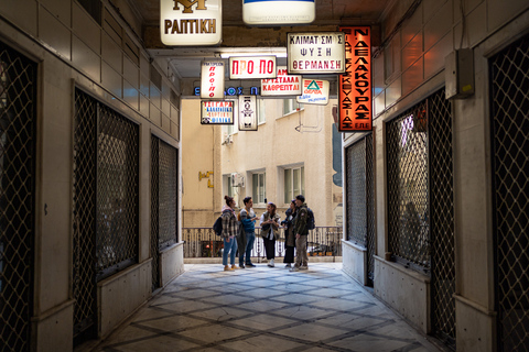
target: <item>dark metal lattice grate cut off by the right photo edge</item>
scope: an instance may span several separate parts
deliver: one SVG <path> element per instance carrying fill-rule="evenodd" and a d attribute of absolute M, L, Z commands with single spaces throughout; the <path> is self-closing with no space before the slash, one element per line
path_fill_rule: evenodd
<path fill-rule="evenodd" d="M 529 36 L 490 59 L 498 351 L 529 351 Z"/>

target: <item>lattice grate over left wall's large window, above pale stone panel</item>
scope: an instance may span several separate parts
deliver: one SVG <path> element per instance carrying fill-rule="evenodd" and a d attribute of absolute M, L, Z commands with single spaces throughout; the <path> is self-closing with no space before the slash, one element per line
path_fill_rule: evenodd
<path fill-rule="evenodd" d="M 138 262 L 138 125 L 99 105 L 97 280 Z"/>

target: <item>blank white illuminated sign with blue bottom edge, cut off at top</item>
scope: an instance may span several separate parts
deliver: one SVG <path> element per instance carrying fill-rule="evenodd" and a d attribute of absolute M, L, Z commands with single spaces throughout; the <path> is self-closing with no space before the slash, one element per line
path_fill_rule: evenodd
<path fill-rule="evenodd" d="M 242 0 L 246 24 L 300 24 L 316 18 L 314 0 Z"/>

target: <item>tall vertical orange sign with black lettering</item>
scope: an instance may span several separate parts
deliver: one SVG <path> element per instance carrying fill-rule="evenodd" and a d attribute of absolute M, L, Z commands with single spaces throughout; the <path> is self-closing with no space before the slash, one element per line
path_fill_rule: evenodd
<path fill-rule="evenodd" d="M 338 131 L 371 131 L 371 29 L 346 26 L 341 30 L 345 33 L 347 70 L 338 77 Z"/>

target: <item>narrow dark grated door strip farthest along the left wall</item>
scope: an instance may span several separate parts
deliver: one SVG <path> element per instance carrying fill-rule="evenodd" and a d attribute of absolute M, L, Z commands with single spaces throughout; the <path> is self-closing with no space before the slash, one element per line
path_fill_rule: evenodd
<path fill-rule="evenodd" d="M 151 257 L 152 290 L 160 287 L 160 251 L 159 251 L 159 175 L 160 175 L 160 139 L 151 136 Z"/>

